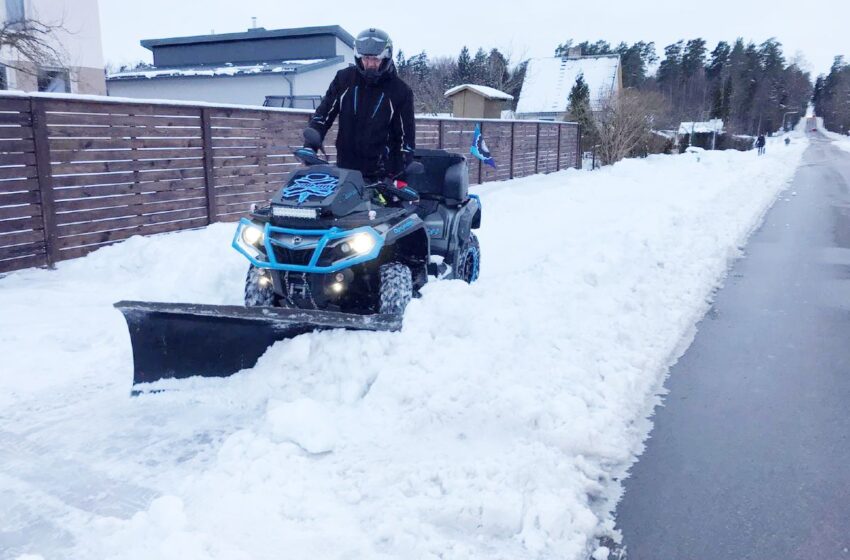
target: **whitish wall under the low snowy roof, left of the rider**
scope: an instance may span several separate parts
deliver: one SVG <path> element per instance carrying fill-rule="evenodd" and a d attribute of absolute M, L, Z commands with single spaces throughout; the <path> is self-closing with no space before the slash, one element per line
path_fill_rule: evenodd
<path fill-rule="evenodd" d="M 287 75 L 293 82 L 293 95 L 324 95 L 337 70 L 345 66 L 336 64 L 304 74 Z M 108 88 L 113 97 L 236 105 L 262 105 L 267 95 L 289 95 L 289 83 L 282 74 L 111 80 Z"/>

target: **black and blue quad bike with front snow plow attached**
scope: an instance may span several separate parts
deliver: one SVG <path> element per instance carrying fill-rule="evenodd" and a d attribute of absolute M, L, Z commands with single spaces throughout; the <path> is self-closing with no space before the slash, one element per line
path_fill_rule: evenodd
<path fill-rule="evenodd" d="M 416 150 L 402 174 L 379 181 L 309 148 L 295 156 L 304 167 L 233 237 L 249 262 L 245 307 L 115 304 L 130 329 L 134 384 L 228 376 L 274 342 L 316 330 L 399 330 L 428 281 L 478 278 L 481 204 L 464 156 Z"/>

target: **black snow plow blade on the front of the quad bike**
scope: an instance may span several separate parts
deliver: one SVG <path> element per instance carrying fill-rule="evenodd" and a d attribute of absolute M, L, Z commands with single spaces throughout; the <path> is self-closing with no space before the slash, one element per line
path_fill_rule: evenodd
<path fill-rule="evenodd" d="M 133 346 L 133 385 L 227 377 L 253 367 L 279 340 L 318 330 L 397 331 L 401 316 L 277 307 L 119 301 Z"/>

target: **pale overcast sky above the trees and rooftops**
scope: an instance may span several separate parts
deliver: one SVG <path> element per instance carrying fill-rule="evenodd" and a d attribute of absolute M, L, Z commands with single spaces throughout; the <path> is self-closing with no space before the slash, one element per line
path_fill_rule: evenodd
<path fill-rule="evenodd" d="M 814 74 L 827 72 L 833 57 L 850 55 L 847 0 L 100 0 L 107 62 L 151 61 L 142 39 L 244 31 L 257 17 L 266 29 L 340 25 L 352 35 L 366 27 L 390 33 L 408 55 L 456 56 L 497 47 L 514 59 L 552 56 L 568 38 L 611 43 L 655 41 L 658 54 L 679 39 L 776 37 L 791 58 L 802 52 Z M 850 57 L 848 57 L 850 58 Z"/>

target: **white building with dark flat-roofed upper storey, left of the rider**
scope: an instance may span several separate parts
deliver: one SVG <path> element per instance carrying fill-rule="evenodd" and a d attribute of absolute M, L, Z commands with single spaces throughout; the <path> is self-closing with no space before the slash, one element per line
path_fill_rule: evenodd
<path fill-rule="evenodd" d="M 109 95 L 312 109 L 354 62 L 354 37 L 337 25 L 141 43 L 153 67 L 110 74 Z"/>

